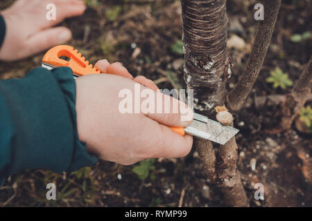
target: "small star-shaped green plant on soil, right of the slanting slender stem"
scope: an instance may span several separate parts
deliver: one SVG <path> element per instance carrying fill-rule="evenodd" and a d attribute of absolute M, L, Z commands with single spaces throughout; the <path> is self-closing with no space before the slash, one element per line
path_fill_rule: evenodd
<path fill-rule="evenodd" d="M 293 81 L 288 78 L 288 74 L 283 73 L 281 68 L 275 68 L 275 70 L 270 71 L 270 77 L 266 79 L 268 83 L 273 83 L 273 88 L 280 87 L 281 89 L 285 89 L 288 86 L 293 85 Z"/>

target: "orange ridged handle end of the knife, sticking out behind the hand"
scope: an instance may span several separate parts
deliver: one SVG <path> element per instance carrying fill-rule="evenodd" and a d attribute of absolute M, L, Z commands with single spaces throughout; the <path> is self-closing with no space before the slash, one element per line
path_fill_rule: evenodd
<path fill-rule="evenodd" d="M 67 57 L 69 61 L 61 59 L 60 57 Z M 77 49 L 71 46 L 61 45 L 51 48 L 46 52 L 42 61 L 55 67 L 69 67 L 73 70 L 75 75 L 79 76 L 101 73 L 100 70 L 94 68 L 92 64 L 89 64 L 89 61 L 87 61 Z"/>

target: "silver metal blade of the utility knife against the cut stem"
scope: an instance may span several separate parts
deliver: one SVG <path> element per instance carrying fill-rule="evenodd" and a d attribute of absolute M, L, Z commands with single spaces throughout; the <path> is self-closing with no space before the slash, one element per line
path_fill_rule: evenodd
<path fill-rule="evenodd" d="M 239 133 L 239 130 L 233 128 L 232 126 L 225 126 L 219 122 L 215 122 L 214 120 L 209 119 L 208 117 L 198 115 L 196 113 L 194 114 L 193 122 L 188 127 L 196 129 L 197 131 L 200 131 L 200 133 L 209 134 L 207 138 L 202 137 L 202 135 L 196 135 L 196 133 L 192 135 L 204 138 L 206 140 L 211 140 L 212 142 L 216 142 L 222 145 L 234 137 L 236 133 Z M 185 128 L 185 132 L 188 133 L 187 128 Z"/>

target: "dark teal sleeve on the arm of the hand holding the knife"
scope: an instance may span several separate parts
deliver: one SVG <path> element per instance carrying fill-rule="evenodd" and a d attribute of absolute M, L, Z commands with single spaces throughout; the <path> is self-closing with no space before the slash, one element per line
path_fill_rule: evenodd
<path fill-rule="evenodd" d="M 70 68 L 0 81 L 0 182 L 22 169 L 71 172 L 98 160 L 78 139 L 75 102 Z"/>

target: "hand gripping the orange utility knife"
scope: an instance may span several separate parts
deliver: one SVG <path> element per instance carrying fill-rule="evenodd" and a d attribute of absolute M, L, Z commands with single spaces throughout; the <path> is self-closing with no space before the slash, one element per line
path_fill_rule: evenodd
<path fill-rule="evenodd" d="M 136 82 L 120 63 L 109 64 L 102 60 L 96 68 L 113 75 L 87 75 L 76 79 L 78 135 L 87 142 L 87 151 L 103 160 L 124 165 L 155 157 L 184 157 L 189 153 L 193 137 L 182 137 L 168 126 L 188 126 L 190 122 L 181 121 L 180 113 L 120 113 L 119 91 L 128 88 L 135 94 Z M 157 88 L 153 81 L 144 77 L 136 80 Z M 163 105 L 170 105 L 171 110 L 180 104 L 177 99 L 161 96 Z M 193 115 L 191 108 L 188 112 Z"/>

